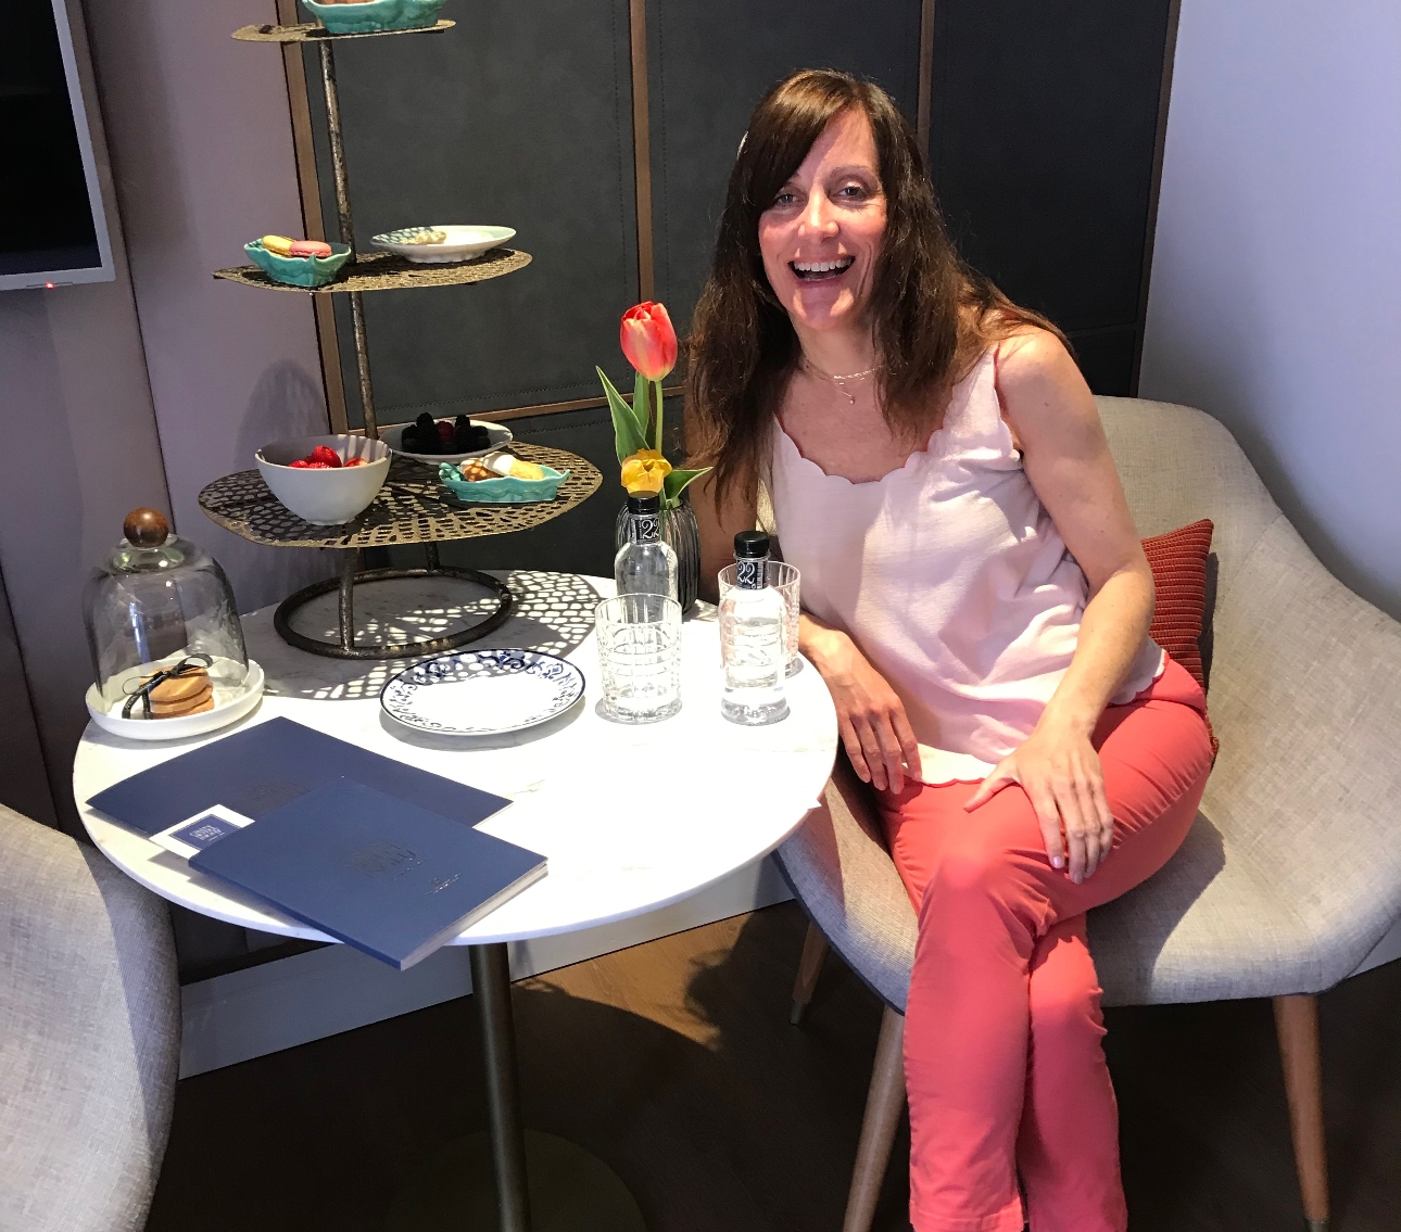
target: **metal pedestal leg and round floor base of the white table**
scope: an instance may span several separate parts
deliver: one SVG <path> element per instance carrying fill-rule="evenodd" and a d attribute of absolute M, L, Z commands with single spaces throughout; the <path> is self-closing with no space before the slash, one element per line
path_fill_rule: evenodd
<path fill-rule="evenodd" d="M 490 1130 L 447 1142 L 405 1180 L 389 1232 L 646 1232 L 597 1155 L 521 1128 L 504 945 L 469 946 Z"/>

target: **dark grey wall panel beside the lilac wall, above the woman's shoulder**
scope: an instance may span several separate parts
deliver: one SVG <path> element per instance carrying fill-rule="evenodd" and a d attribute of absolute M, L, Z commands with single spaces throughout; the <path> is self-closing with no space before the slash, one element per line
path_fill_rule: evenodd
<path fill-rule="evenodd" d="M 1168 0 L 939 0 L 930 169 L 964 256 L 1126 393 Z M 1122 336 L 1100 333 L 1128 328 Z M 1091 382 L 1093 384 L 1093 382 Z"/>

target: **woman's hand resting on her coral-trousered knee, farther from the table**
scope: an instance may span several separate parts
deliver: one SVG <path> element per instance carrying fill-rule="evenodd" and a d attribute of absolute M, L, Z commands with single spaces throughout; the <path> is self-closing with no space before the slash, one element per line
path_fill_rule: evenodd
<path fill-rule="evenodd" d="M 1069 850 L 1070 881 L 1083 882 L 1114 844 L 1104 770 L 1089 736 L 1038 725 L 1021 748 L 998 763 L 964 808 L 971 812 L 1013 783 L 1037 812 L 1051 867 L 1063 868 Z"/>

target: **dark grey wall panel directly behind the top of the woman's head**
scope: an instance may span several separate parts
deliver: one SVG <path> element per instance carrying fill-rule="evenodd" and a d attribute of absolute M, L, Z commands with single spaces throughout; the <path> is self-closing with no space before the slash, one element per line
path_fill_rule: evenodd
<path fill-rule="evenodd" d="M 859 14 L 843 0 L 656 0 L 647 21 L 657 298 L 684 330 L 754 105 L 794 69 L 845 69 L 884 85 L 913 123 L 919 0 Z"/>

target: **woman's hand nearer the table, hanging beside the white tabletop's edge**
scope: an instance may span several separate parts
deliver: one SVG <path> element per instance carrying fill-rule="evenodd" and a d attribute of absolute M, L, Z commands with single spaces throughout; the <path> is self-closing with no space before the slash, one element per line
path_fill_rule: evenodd
<path fill-rule="evenodd" d="M 902 791 L 919 767 L 905 704 L 845 633 L 801 617 L 799 645 L 827 682 L 852 769 L 877 791 Z"/>

